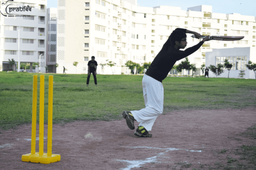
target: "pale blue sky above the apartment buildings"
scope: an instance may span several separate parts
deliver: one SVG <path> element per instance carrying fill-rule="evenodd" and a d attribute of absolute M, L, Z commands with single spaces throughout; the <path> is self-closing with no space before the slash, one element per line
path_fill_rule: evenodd
<path fill-rule="evenodd" d="M 48 0 L 47 8 L 57 8 L 57 1 Z M 137 0 L 137 4 L 143 7 L 175 6 L 181 7 L 181 10 L 186 11 L 188 7 L 210 5 L 213 13 L 239 13 L 241 15 L 256 16 L 256 0 Z"/>

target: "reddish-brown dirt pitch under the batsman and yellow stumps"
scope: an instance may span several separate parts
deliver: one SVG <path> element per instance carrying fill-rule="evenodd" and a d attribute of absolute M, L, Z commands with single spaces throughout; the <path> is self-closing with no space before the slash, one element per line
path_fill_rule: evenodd
<path fill-rule="evenodd" d="M 256 122 L 256 108 L 174 111 L 160 115 L 152 128 L 153 137 L 133 135 L 125 120 L 72 122 L 53 125 L 52 153 L 61 160 L 51 164 L 22 162 L 30 153 L 31 125 L 0 134 L 0 169 L 101 170 L 101 169 L 209 169 L 227 164 L 233 150 L 251 145 L 239 134 Z M 138 126 L 135 122 L 135 126 Z M 39 126 L 37 125 L 37 129 Z M 47 125 L 44 128 L 47 150 Z M 37 130 L 38 137 L 38 130 Z M 38 140 L 36 141 L 38 152 Z M 228 150 L 219 154 L 221 150 Z M 187 162 L 186 162 L 187 161 Z M 241 160 L 243 161 L 243 160 Z M 183 165 L 191 163 L 186 168 Z"/>

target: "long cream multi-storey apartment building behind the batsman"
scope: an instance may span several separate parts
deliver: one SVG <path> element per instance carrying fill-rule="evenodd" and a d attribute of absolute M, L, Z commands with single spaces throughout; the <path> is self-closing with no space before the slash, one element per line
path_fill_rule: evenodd
<path fill-rule="evenodd" d="M 152 62 L 169 35 L 176 28 L 186 28 L 203 35 L 245 36 L 240 41 L 208 41 L 188 57 L 200 66 L 205 52 L 214 48 L 255 48 L 256 22 L 253 16 L 213 13 L 212 6 L 188 8 L 137 6 L 137 0 L 58 0 L 57 73 L 63 66 L 70 74 L 86 73 L 91 56 L 100 63 L 116 63 L 114 74 L 129 74 L 128 60 Z M 188 46 L 199 42 L 188 34 Z M 78 62 L 77 66 L 73 65 Z M 180 62 L 180 61 L 179 61 Z M 112 74 L 110 67 L 98 66 L 99 74 Z"/>

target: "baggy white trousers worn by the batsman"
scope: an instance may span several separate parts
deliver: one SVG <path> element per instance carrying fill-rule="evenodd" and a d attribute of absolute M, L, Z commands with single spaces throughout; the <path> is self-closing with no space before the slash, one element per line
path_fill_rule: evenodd
<path fill-rule="evenodd" d="M 146 107 L 131 111 L 131 113 L 134 119 L 140 122 L 139 126 L 151 131 L 157 116 L 163 113 L 164 87 L 160 81 L 144 74 L 142 88 Z"/>

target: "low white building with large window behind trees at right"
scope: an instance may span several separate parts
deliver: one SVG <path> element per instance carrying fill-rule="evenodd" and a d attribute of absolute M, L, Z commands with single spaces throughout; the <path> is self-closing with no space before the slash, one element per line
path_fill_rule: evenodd
<path fill-rule="evenodd" d="M 241 48 L 222 48 L 213 49 L 212 52 L 205 53 L 205 67 L 210 65 L 223 64 L 224 60 L 228 59 L 228 62 L 233 64 L 232 69 L 229 71 L 229 78 L 239 78 L 240 70 L 244 70 L 244 78 L 255 79 L 255 74 L 252 70 L 247 69 L 245 64 L 248 61 L 256 63 L 256 50 L 251 47 L 241 47 Z M 223 69 L 224 72 L 220 74 L 221 78 L 228 78 L 228 70 Z M 216 75 L 209 70 L 209 77 L 216 77 Z"/>

